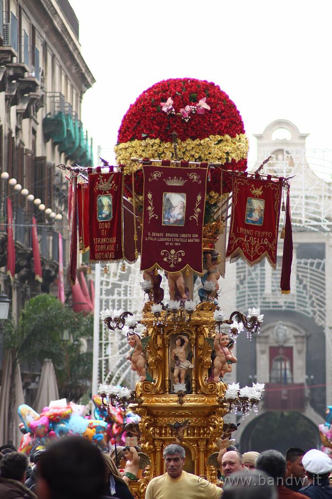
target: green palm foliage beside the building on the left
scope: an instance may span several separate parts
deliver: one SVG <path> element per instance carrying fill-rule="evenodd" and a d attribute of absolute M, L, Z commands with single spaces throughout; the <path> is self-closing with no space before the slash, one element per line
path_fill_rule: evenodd
<path fill-rule="evenodd" d="M 29 365 L 51 359 L 60 397 L 77 401 L 92 376 L 92 354 L 86 351 L 93 335 L 92 315 L 76 313 L 54 296 L 40 294 L 27 301 L 16 325 L 6 322 L 5 348 Z"/>

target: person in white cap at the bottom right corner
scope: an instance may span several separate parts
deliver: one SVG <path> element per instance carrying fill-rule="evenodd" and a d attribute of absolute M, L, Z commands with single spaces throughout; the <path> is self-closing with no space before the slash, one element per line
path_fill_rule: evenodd
<path fill-rule="evenodd" d="M 332 499 L 329 475 L 332 472 L 332 459 L 317 449 L 308 451 L 302 458 L 309 484 L 300 493 L 312 499 Z"/>

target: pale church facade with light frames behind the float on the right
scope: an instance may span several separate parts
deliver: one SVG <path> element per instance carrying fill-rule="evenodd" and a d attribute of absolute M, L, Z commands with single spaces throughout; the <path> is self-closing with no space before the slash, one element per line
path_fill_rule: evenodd
<path fill-rule="evenodd" d="M 288 415 L 292 418 L 296 412 L 299 418 L 307 418 L 316 426 L 324 421 L 324 410 L 332 397 L 332 311 L 327 306 L 332 298 L 331 278 L 327 279 L 332 275 L 332 151 L 306 149 L 307 136 L 287 120 L 274 121 L 263 134 L 255 135 L 255 168 L 272 155 L 265 173 L 295 175 L 291 182 L 292 292 L 280 293 L 282 240 L 276 271 L 266 262 L 255 267 L 237 262 L 233 269 L 237 309 L 260 306 L 265 327 L 250 344 L 249 351 L 248 344 L 246 350 L 241 348 L 245 338 L 239 338 L 239 369 L 235 369 L 234 378 L 240 385 L 256 379 L 267 384 L 260 409 L 263 417 L 275 414 L 277 424 L 277 414 L 284 414 L 281 419 L 285 423 Z M 226 284 L 224 291 L 227 289 Z M 278 340 L 278 327 L 286 330 L 284 339 L 280 334 Z M 292 369 L 292 376 L 285 372 L 279 384 L 271 372 L 278 354 L 288 358 L 287 367 Z M 258 428 L 259 420 L 254 422 L 251 416 L 241 422 L 236 437 L 242 451 L 252 445 L 250 435 L 255 433 L 256 424 Z M 296 444 L 289 442 L 292 445 Z"/>

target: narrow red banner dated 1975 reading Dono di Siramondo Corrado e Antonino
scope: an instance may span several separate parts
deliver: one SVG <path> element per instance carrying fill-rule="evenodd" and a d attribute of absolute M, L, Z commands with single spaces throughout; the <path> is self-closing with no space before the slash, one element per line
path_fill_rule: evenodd
<path fill-rule="evenodd" d="M 89 172 L 90 262 L 123 259 L 123 175 Z"/>

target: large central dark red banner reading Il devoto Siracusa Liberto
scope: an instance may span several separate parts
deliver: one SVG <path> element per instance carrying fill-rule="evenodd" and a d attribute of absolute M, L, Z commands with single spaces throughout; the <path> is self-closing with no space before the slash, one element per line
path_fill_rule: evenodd
<path fill-rule="evenodd" d="M 207 171 L 143 165 L 141 270 L 203 272 Z"/>

